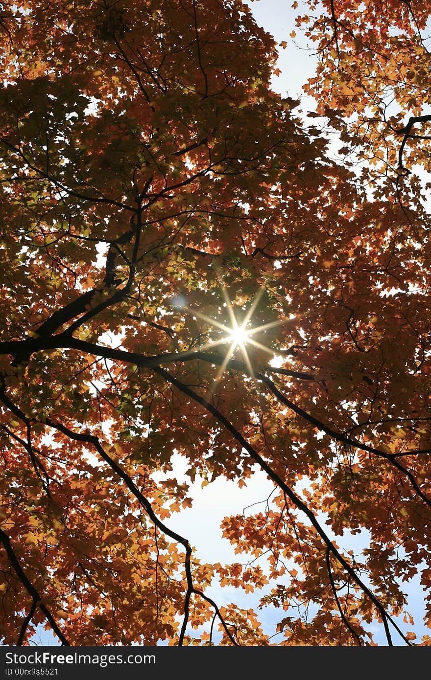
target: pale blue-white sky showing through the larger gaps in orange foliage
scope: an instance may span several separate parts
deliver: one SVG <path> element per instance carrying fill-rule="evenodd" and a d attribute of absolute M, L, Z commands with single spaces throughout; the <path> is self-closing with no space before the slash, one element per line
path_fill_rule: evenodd
<path fill-rule="evenodd" d="M 289 37 L 291 31 L 296 29 L 295 16 L 300 13 L 302 3 L 298 3 L 298 10 L 292 10 L 289 1 L 283 0 L 256 0 L 246 2 L 255 16 L 257 24 L 264 27 L 277 42 L 287 41 L 287 48 L 280 50 L 278 68 L 281 75 L 274 77 L 272 87 L 283 97 L 289 96 L 293 99 L 302 99 L 301 108 L 304 114 L 314 109 L 313 100 L 305 97 L 302 92 L 302 85 L 306 80 L 314 75 L 316 56 L 312 49 L 308 48 L 304 37 L 297 30 L 295 39 Z M 180 479 L 185 473 L 185 462 L 180 456 L 174 456 L 174 473 Z M 171 473 L 172 474 L 172 473 Z M 273 490 L 273 485 L 261 471 L 256 471 L 255 475 L 249 480 L 245 488 L 238 488 L 236 483 L 217 479 L 204 489 L 201 488 L 200 480 L 197 478 L 191 488 L 191 496 L 194 505 L 191 509 L 185 509 L 181 513 L 174 514 L 166 524 L 174 531 L 186 536 L 191 545 L 195 546 L 195 554 L 202 560 L 208 562 L 229 562 L 244 560 L 243 556 L 234 554 L 232 545 L 221 537 L 220 524 L 225 515 L 242 513 L 249 505 L 264 502 Z M 255 508 L 253 508 L 255 510 Z M 327 527 L 325 527 L 327 529 Z M 337 537 L 337 543 L 344 549 L 355 549 L 360 551 L 366 546 L 366 535 L 360 534 L 357 537 L 345 539 Z M 267 589 L 269 590 L 269 589 Z M 429 630 L 421 626 L 423 615 L 423 598 L 417 578 L 406 590 L 409 592 L 409 612 L 417 619 L 415 631 L 418 636 L 427 633 Z M 264 591 L 257 591 L 257 594 L 246 595 L 232 588 L 219 588 L 214 585 L 206 591 L 206 594 L 214 598 L 218 605 L 228 604 L 235 601 L 240 607 L 249 609 L 255 606 Z M 283 617 L 284 612 L 275 609 L 267 609 L 260 612 L 261 622 L 267 634 L 275 632 L 276 623 Z M 399 623 L 399 622 L 397 622 Z M 400 624 L 402 626 L 402 624 Z M 403 626 L 406 630 L 406 626 Z M 371 626 L 376 633 L 376 641 L 385 644 L 385 637 L 381 627 Z M 273 639 L 273 642 L 277 638 Z M 54 636 L 49 632 L 38 630 L 33 639 L 33 643 L 38 645 L 57 644 Z M 396 635 L 394 643 L 398 644 Z"/>

